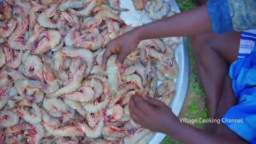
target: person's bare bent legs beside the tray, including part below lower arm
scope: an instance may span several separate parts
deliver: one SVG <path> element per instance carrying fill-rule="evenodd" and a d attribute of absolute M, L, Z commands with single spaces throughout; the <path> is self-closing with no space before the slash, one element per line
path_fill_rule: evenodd
<path fill-rule="evenodd" d="M 206 93 L 210 118 L 220 119 L 226 111 L 236 105 L 228 69 L 237 59 L 241 33 L 223 35 L 205 34 L 191 37 L 196 68 Z M 212 133 L 227 138 L 240 139 L 225 124 L 213 125 Z"/>

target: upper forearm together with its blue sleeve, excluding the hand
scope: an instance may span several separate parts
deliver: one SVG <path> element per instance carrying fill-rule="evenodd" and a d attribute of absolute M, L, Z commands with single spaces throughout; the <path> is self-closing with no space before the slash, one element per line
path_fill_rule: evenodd
<path fill-rule="evenodd" d="M 223 34 L 256 28 L 254 0 L 212 0 L 196 9 L 138 27 L 139 39 Z"/>

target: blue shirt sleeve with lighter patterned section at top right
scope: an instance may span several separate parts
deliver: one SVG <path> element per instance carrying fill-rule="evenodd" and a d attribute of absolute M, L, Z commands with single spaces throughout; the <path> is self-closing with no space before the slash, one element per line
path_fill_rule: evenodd
<path fill-rule="evenodd" d="M 214 33 L 256 28 L 254 0 L 212 0 L 206 3 Z"/>

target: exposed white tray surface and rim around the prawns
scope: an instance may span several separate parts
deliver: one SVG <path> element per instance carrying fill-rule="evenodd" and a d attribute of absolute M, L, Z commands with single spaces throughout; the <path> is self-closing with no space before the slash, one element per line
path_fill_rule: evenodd
<path fill-rule="evenodd" d="M 172 5 L 172 9 L 180 13 L 180 9 L 175 0 L 166 0 Z M 121 7 L 129 9 L 127 12 L 122 12 L 120 17 L 125 21 L 127 25 L 141 26 L 145 23 L 149 23 L 150 20 L 144 11 L 136 11 L 132 4 L 132 0 L 121 0 Z M 176 78 L 176 94 L 169 107 L 172 108 L 173 113 L 178 116 L 182 108 L 183 102 L 186 97 L 189 77 L 189 55 L 188 55 L 188 39 L 187 37 L 181 37 L 181 44 L 175 49 L 175 58 L 179 66 L 179 76 Z M 159 83 L 158 83 L 159 84 Z M 156 133 L 154 138 L 149 144 L 161 143 L 166 134 Z"/>

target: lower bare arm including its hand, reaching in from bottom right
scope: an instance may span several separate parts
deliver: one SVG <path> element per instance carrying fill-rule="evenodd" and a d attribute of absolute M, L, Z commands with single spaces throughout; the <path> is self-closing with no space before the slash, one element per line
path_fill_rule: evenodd
<path fill-rule="evenodd" d="M 186 123 L 181 123 L 179 118 L 172 113 L 172 109 L 163 102 L 151 97 L 142 98 L 138 93 L 131 98 L 129 111 L 133 121 L 145 129 L 165 133 L 182 143 L 247 143 L 209 134 Z"/>

